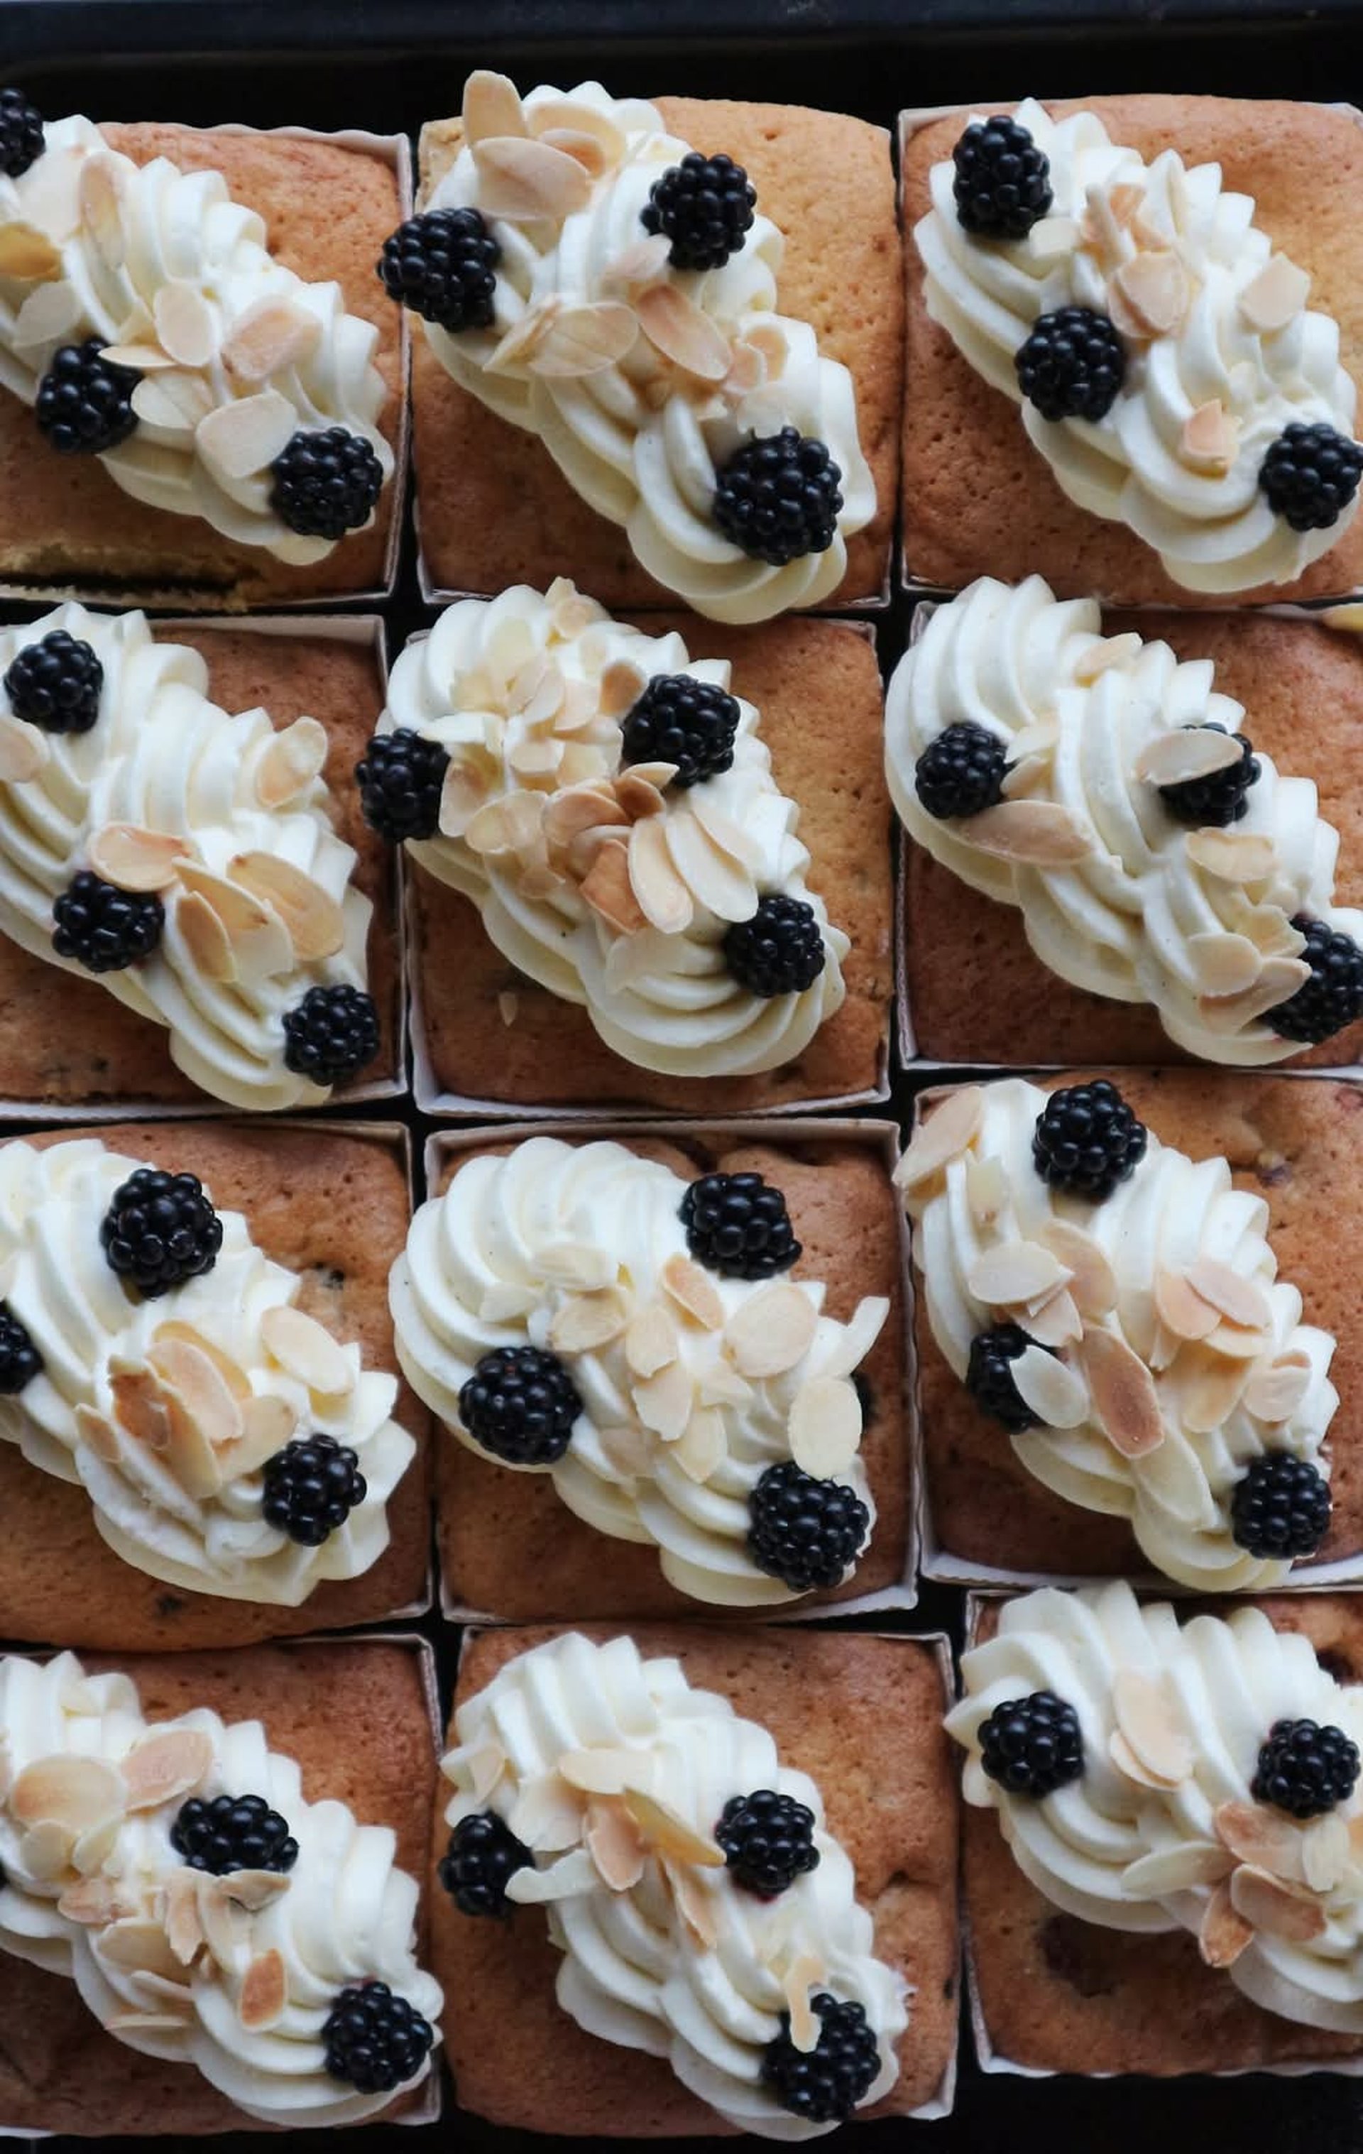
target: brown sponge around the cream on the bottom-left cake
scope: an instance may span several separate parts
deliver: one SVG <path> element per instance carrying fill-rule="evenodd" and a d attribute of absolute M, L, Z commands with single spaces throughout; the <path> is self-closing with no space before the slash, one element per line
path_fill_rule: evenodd
<path fill-rule="evenodd" d="M 411 1648 L 258 1646 L 146 1661 L 121 1652 L 88 1656 L 84 1667 L 131 1676 L 153 1721 L 194 1706 L 211 1706 L 224 1721 L 265 1721 L 271 1749 L 301 1764 L 310 1803 L 334 1796 L 362 1824 L 392 1827 L 398 1865 L 426 1874 L 435 1758 Z M 426 1964 L 424 1896 L 418 1956 Z M 144 2057 L 97 2027 L 65 1975 L 9 1954 L 0 1954 L 0 2117 L 78 2137 L 267 2130 L 194 2066 Z"/>

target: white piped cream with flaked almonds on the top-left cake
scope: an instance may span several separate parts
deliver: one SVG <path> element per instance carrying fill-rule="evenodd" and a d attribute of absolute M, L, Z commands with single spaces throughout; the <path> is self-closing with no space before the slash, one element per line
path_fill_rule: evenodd
<path fill-rule="evenodd" d="M 125 493 L 276 560 L 325 560 L 336 541 L 276 515 L 271 463 L 295 433 L 345 426 L 392 478 L 379 332 L 340 284 L 273 261 L 222 172 L 138 166 L 86 118 L 45 140 L 19 179 L 0 172 L 0 383 L 34 403 L 54 353 L 99 338 L 142 375 L 136 431 L 99 457 Z"/>

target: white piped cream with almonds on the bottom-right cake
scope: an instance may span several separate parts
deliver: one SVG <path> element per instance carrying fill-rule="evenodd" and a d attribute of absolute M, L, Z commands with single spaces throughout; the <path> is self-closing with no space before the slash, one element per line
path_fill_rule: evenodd
<path fill-rule="evenodd" d="M 962 1654 L 947 1730 L 969 1751 L 965 1799 L 997 1809 L 1014 1861 L 1055 1906 L 1109 1930 L 1191 1930 L 1253 2003 L 1363 2033 L 1363 1788 L 1298 1822 L 1257 1801 L 1275 1721 L 1313 1719 L 1363 1747 L 1363 1693 L 1262 1609 L 1178 1624 L 1124 1581 L 1025 1594 Z M 1083 1777 L 1042 1799 L 980 1764 L 1003 1704 L 1053 1691 L 1074 1708 Z"/>

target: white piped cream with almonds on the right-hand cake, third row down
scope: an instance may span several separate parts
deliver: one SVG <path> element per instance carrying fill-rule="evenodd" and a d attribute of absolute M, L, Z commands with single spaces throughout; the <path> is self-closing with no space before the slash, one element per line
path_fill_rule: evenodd
<path fill-rule="evenodd" d="M 1038 1419 L 1010 1437 L 1027 1471 L 1128 1519 L 1182 1585 L 1273 1587 L 1290 1564 L 1236 1544 L 1234 1484 L 1264 1452 L 1329 1473 L 1335 1340 L 1303 1325 L 1268 1204 L 1225 1159 L 1186 1159 L 1150 1131 L 1130 1178 L 1094 1204 L 1036 1172 L 1044 1105 L 1021 1077 L 950 1092 L 900 1163 L 932 1338 L 965 1379 L 980 1331 L 1021 1325 L 1038 1342 L 1010 1363 Z"/>

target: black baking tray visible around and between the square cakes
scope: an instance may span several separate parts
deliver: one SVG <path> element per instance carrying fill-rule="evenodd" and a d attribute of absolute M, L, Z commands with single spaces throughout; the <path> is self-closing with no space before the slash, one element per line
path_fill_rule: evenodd
<path fill-rule="evenodd" d="M 52 114 L 198 125 L 370 127 L 416 136 L 459 108 L 472 67 L 523 86 L 594 75 L 616 93 L 775 99 L 859 112 L 885 127 L 902 106 L 1100 90 L 1288 95 L 1363 103 L 1363 0 L 0 0 L 0 84 L 24 82 Z M 962 478 L 969 485 L 969 474 Z M 0 517 L 4 504 L 0 502 Z M 364 607 L 366 612 L 370 607 Z M 11 607 L 11 616 L 30 607 Z M 885 668 L 911 605 L 876 616 Z M 385 607 L 390 651 L 424 627 L 411 530 Z M 907 1120 L 915 1079 L 896 1077 Z M 403 1111 L 403 1109 L 392 1109 Z M 876 1109 L 881 1111 L 881 1109 Z M 407 1109 L 420 1142 L 422 1118 Z M 960 1596 L 926 1587 L 900 1628 L 960 1628 Z M 448 1702 L 454 1635 L 433 1637 Z M 452 2001 L 459 2010 L 459 2001 Z M 545 2003 L 545 2010 L 551 2010 Z M 0 2046 L 4 2029 L 0 2027 Z M 80 2072 L 80 2059 L 71 2059 Z M 108 2141 L 123 2145 L 125 2141 Z M 157 2148 L 174 2141 L 155 2141 Z M 198 2143 L 198 2141 L 194 2141 Z M 239 2132 L 224 2154 L 278 2148 Z M 536 2154 L 581 2141 L 497 2130 L 448 2107 L 439 2126 L 299 2132 L 345 2154 Z M 820 2141 L 827 2145 L 829 2141 Z M 973 2064 L 962 2031 L 956 2111 L 937 2124 L 833 2135 L 848 2154 L 1018 2154 L 1029 2148 L 1152 2154 L 1361 2154 L 1363 2081 L 1329 2074 L 1229 2081 L 1027 2081 Z M 82 2141 L 47 2141 L 71 2150 Z M 631 2141 L 612 2141 L 629 2154 Z M 637 2141 L 640 2154 L 657 2141 Z M 678 2141 L 674 2141 L 678 2145 Z M 695 2154 L 715 2141 L 683 2141 Z"/>

